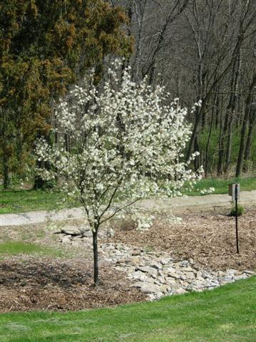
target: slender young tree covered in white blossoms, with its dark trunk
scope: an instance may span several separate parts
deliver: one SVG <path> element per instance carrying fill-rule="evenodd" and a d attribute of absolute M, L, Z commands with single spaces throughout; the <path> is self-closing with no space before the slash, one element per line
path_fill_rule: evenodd
<path fill-rule="evenodd" d="M 183 161 L 190 129 L 178 99 L 167 105 L 168 93 L 146 80 L 133 83 L 129 68 L 118 77 L 116 61 L 97 86 L 93 71 L 61 101 L 55 133 L 68 136 L 58 145 L 37 145 L 49 180 L 66 180 L 63 192 L 81 202 L 93 232 L 94 282 L 98 284 L 98 229 L 139 199 L 180 195 L 184 182 L 200 177 Z M 195 155 L 191 156 L 191 160 Z"/>

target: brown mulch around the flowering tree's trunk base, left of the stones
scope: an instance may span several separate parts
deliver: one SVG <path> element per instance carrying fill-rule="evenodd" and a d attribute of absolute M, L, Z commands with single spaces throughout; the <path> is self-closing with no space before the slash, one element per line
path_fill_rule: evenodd
<path fill-rule="evenodd" d="M 53 259 L 15 259 L 0 263 L 0 312 L 80 310 L 145 300 L 130 289 L 124 274 L 101 265 L 101 284 L 93 286 L 92 264 Z"/>

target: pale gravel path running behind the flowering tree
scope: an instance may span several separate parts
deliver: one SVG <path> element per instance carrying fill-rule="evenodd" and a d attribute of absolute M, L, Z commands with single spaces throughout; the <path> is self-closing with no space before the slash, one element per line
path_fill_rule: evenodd
<path fill-rule="evenodd" d="M 201 209 L 213 207 L 227 207 L 230 205 L 231 197 L 228 195 L 204 195 L 191 197 L 176 197 L 164 202 L 156 202 L 153 199 L 146 199 L 141 204 L 148 209 L 160 208 L 171 209 L 174 212 L 183 209 Z M 240 192 L 240 204 L 256 204 L 256 190 Z M 83 210 L 80 208 L 63 209 L 55 211 L 35 211 L 19 214 L 1 214 L 0 227 L 20 226 L 24 224 L 36 224 L 52 221 L 63 221 L 66 219 L 78 219 L 83 216 Z"/>

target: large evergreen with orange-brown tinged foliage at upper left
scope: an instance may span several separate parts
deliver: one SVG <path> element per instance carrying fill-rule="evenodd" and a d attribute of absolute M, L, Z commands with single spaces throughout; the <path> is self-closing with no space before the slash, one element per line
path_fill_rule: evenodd
<path fill-rule="evenodd" d="M 3 0 L 0 4 L 0 142 L 4 187 L 10 150 L 48 135 L 53 100 L 108 54 L 128 56 L 126 16 L 101 0 Z M 6 125 L 7 123 L 7 125 Z M 16 145 L 19 145 L 18 148 Z M 19 153 L 21 157 L 21 153 Z"/>

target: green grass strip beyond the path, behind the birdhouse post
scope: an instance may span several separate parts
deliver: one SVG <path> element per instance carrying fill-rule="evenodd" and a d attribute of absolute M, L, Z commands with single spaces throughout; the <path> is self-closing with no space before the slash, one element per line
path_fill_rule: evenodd
<path fill-rule="evenodd" d="M 204 178 L 195 185 L 195 190 L 192 192 L 185 192 L 186 195 L 197 196 L 202 195 L 200 190 L 215 188 L 214 194 L 227 194 L 228 185 L 232 183 L 240 183 L 240 191 L 256 190 L 256 177 L 245 178 Z"/>

